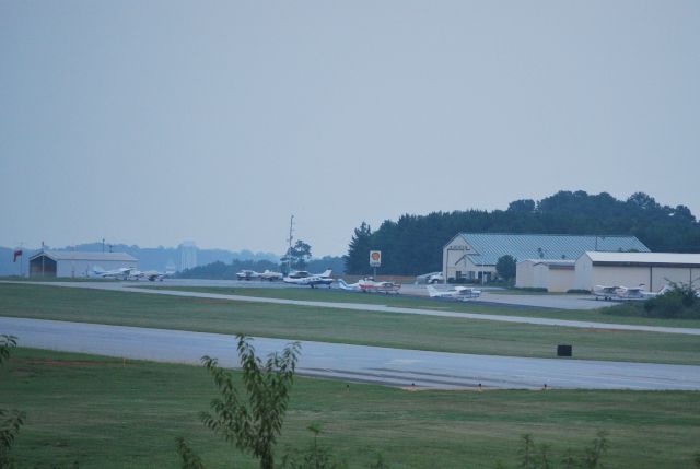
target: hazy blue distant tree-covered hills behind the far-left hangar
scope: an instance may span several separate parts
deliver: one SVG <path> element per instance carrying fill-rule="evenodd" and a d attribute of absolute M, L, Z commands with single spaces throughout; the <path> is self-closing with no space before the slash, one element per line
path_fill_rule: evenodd
<path fill-rule="evenodd" d="M 69 247 L 48 247 L 51 250 L 72 250 L 72 246 Z M 86 253 L 100 253 L 103 249 L 102 243 L 88 243 L 75 246 L 75 250 Z M 142 270 L 159 270 L 164 271 L 166 267 L 172 263 L 177 270 L 180 267 L 182 251 L 179 247 L 145 247 L 141 248 L 137 245 L 105 245 L 105 250 L 112 249 L 114 253 L 128 253 L 131 256 L 139 259 L 139 268 Z M 28 271 L 28 259 L 38 249 L 24 249 L 23 256 L 23 271 Z M 15 275 L 19 273 L 19 262 L 12 262 L 14 249 L 9 247 L 0 247 L 0 275 Z M 231 263 L 234 259 L 245 261 L 272 261 L 278 262 L 280 256 L 272 253 L 253 253 L 244 249 L 240 251 L 230 251 L 224 249 L 197 249 L 197 266 L 205 266 L 208 263 L 222 261 Z"/>

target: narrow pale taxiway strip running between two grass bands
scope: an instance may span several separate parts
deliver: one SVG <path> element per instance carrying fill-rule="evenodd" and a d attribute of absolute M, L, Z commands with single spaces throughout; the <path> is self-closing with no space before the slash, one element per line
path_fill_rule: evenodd
<path fill-rule="evenodd" d="M 262 297 L 245 296 L 245 295 L 225 295 L 225 294 L 219 294 L 219 293 L 186 292 L 186 291 L 175 291 L 175 290 L 149 290 L 149 289 L 135 288 L 133 282 L 45 282 L 45 283 L 36 282 L 36 283 L 51 285 L 51 286 L 73 288 L 73 289 L 79 288 L 79 289 L 110 290 L 110 291 L 116 290 L 116 291 L 125 291 L 125 292 L 139 293 L 139 294 L 154 294 L 154 295 L 212 298 L 212 300 L 225 300 L 225 301 L 237 301 L 237 302 L 311 306 L 311 307 L 323 307 L 327 309 L 352 309 L 352 310 L 380 312 L 380 313 L 393 313 L 393 314 L 413 314 L 413 315 L 422 315 L 422 316 L 492 320 L 492 321 L 499 321 L 499 323 L 530 324 L 530 325 L 537 325 L 537 326 L 574 327 L 574 328 L 583 328 L 583 329 L 605 329 L 605 330 L 632 330 L 632 331 L 642 331 L 642 332 L 682 333 L 682 335 L 700 336 L 699 328 L 639 326 L 639 325 L 595 323 L 595 321 L 583 321 L 583 320 L 550 319 L 550 318 L 527 317 L 527 316 L 456 313 L 456 312 L 447 312 L 447 310 L 440 310 L 440 309 L 406 308 L 406 307 L 362 304 L 362 303 L 315 302 L 315 301 L 300 301 L 300 300 L 262 298 Z M 363 295 L 362 293 L 358 293 L 359 301 L 362 300 L 362 295 Z M 436 304 L 439 304 L 438 301 L 436 301 Z"/>

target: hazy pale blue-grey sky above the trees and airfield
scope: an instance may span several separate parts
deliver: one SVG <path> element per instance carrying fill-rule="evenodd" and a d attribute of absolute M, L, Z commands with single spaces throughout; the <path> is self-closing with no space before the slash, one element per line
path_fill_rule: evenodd
<path fill-rule="evenodd" d="M 0 0 L 0 245 L 316 256 L 559 189 L 700 214 L 700 2 Z"/>

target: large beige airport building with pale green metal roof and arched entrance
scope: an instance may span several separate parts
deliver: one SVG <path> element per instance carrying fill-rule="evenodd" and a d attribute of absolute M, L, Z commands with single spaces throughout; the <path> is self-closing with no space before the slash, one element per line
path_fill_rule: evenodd
<path fill-rule="evenodd" d="M 488 282 L 497 277 L 495 265 L 505 255 L 515 260 L 575 261 L 586 251 L 649 253 L 649 248 L 634 236 L 459 233 L 443 247 L 442 270 L 446 281 Z"/>

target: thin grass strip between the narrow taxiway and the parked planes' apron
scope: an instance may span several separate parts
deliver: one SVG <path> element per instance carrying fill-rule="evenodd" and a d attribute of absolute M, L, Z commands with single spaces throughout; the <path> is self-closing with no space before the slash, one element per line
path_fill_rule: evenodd
<path fill-rule="evenodd" d="M 545 317 L 551 319 L 568 320 L 592 320 L 596 323 L 608 324 L 629 324 L 641 326 L 663 326 L 663 327 L 700 327 L 700 319 L 663 319 L 663 318 L 645 318 L 625 315 L 608 314 L 609 308 L 599 309 L 553 309 L 553 308 L 536 308 L 532 306 L 509 306 L 497 304 L 480 304 L 478 302 L 454 302 L 447 300 L 430 300 L 427 297 L 417 297 L 408 295 L 386 295 L 386 294 L 369 294 L 361 292 L 346 292 L 338 289 L 310 289 L 310 288 L 292 288 L 292 289 L 275 289 L 275 288 L 228 288 L 228 286 L 137 286 L 144 290 L 174 290 L 180 292 L 201 292 L 217 293 L 223 295 L 242 295 L 255 296 L 259 298 L 283 298 L 300 300 L 311 302 L 331 302 L 331 303 L 363 303 L 378 304 L 406 308 L 451 310 L 458 313 L 475 314 L 492 314 L 502 316 L 526 316 L 526 317 Z M 489 292 L 492 295 L 503 295 L 508 291 Z M 505 293 L 511 296 L 520 294 L 520 292 Z M 539 294 L 541 295 L 541 294 Z M 565 296 L 565 294 L 546 294 L 547 296 Z M 529 294 L 533 296 L 533 294 Z M 488 301 L 488 298 L 487 298 Z"/>

